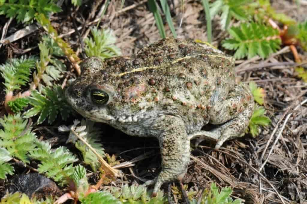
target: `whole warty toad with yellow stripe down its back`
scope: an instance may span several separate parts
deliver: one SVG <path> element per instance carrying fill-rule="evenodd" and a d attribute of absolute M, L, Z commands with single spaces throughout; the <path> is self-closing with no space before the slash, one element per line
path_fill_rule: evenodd
<path fill-rule="evenodd" d="M 183 178 L 190 139 L 204 135 L 218 148 L 243 136 L 253 113 L 249 87 L 235 85 L 234 59 L 192 40 L 167 38 L 104 62 L 91 57 L 81 68 L 66 90 L 77 112 L 128 135 L 159 139 L 162 170 L 147 182 L 156 182 L 153 194 L 164 182 Z M 96 92 L 103 93 L 100 102 Z M 200 131 L 206 124 L 221 125 Z"/>

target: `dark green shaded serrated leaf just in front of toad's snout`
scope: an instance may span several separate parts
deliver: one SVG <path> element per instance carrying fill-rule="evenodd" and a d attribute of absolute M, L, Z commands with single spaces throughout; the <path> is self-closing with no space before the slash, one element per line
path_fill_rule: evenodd
<path fill-rule="evenodd" d="M 34 90 L 29 97 L 30 104 L 33 108 L 24 113 L 26 118 L 30 118 L 40 113 L 37 120 L 41 124 L 48 118 L 48 123 L 52 124 L 58 113 L 66 120 L 72 111 L 64 96 L 64 90 L 60 86 L 53 89 L 45 88 L 42 93 Z"/>

